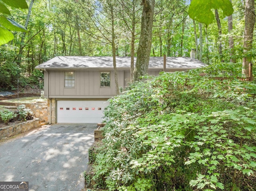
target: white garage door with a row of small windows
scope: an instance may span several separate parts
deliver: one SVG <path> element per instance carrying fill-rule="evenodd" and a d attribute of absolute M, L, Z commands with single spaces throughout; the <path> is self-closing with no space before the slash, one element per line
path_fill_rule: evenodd
<path fill-rule="evenodd" d="M 108 101 L 57 101 L 57 123 L 100 123 Z"/>

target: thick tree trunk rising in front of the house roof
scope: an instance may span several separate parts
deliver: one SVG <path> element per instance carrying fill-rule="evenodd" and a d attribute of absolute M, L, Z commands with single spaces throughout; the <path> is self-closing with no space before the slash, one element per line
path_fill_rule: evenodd
<path fill-rule="evenodd" d="M 141 76 L 146 75 L 148 72 L 155 0 L 142 0 L 142 5 L 140 42 L 134 71 L 135 81 L 138 81 Z"/>

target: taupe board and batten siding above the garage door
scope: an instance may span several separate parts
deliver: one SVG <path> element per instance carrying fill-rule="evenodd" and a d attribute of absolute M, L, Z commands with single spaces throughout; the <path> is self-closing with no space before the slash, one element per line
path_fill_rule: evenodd
<path fill-rule="evenodd" d="M 112 97 L 115 92 L 114 71 L 110 72 L 110 87 L 100 87 L 100 72 L 104 71 L 74 71 L 75 87 L 64 87 L 64 72 L 61 70 L 48 70 L 44 72 L 44 93 L 47 98 L 92 98 L 98 96 Z M 119 87 L 124 87 L 124 71 L 118 71 Z"/>

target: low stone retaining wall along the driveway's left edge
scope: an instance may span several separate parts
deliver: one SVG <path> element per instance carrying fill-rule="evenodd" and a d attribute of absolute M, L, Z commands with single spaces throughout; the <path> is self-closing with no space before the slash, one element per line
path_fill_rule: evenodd
<path fill-rule="evenodd" d="M 33 120 L 28 120 L 21 122 L 19 124 L 6 126 L 4 128 L 0 128 L 0 140 L 24 133 L 28 130 L 38 128 L 41 126 L 41 119 L 35 118 Z"/>

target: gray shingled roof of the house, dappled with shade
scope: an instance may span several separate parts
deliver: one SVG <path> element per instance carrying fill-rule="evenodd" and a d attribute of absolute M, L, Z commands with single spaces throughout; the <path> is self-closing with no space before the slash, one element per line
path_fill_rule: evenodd
<path fill-rule="evenodd" d="M 116 57 L 117 68 L 130 68 L 130 57 Z M 136 57 L 134 58 L 136 63 Z M 163 68 L 164 57 L 150 57 L 149 68 Z M 166 69 L 193 69 L 206 64 L 190 57 L 166 57 Z M 113 57 L 57 56 L 38 66 L 36 69 L 82 69 L 113 68 Z"/>

